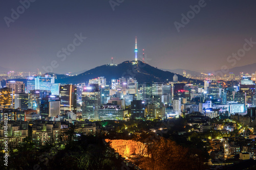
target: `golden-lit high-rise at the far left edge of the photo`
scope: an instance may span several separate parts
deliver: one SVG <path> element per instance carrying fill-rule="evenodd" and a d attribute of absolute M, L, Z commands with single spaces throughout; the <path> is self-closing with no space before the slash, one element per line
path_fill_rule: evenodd
<path fill-rule="evenodd" d="M 0 89 L 0 107 L 13 108 L 14 107 L 14 90 L 12 88 Z"/>

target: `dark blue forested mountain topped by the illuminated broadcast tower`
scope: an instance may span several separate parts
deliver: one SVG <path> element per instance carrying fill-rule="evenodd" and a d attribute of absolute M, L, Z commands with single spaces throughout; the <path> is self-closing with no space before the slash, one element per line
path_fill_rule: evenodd
<path fill-rule="evenodd" d="M 78 84 L 87 83 L 89 79 L 94 79 L 97 77 L 105 77 L 107 82 L 110 83 L 112 79 L 118 79 L 121 77 L 135 77 L 139 84 L 144 82 L 169 82 L 173 81 L 173 72 L 163 71 L 161 69 L 155 68 L 151 65 L 138 61 L 138 64 L 133 64 L 134 61 L 124 61 L 117 65 L 102 65 L 90 69 L 77 76 L 57 76 L 56 83 L 63 84 Z M 188 79 L 177 75 L 179 81 L 187 82 Z M 203 83 L 202 81 L 189 79 L 189 82 Z"/>

